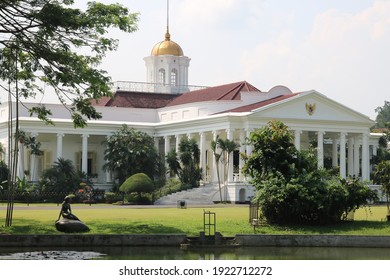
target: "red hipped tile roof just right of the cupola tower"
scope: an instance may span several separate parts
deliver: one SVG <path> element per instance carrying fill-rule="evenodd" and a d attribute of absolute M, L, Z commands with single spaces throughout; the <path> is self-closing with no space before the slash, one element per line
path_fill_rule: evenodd
<path fill-rule="evenodd" d="M 240 92 L 261 92 L 256 87 L 243 81 L 201 90 L 190 91 L 172 100 L 168 106 L 183 105 L 202 101 L 240 100 Z"/>

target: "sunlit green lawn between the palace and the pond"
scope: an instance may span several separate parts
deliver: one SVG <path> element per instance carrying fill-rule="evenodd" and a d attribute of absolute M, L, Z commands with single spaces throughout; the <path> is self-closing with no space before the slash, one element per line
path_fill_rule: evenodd
<path fill-rule="evenodd" d="M 0 204 L 0 234 L 60 234 L 54 227 L 60 207 L 57 205 L 15 205 L 12 227 L 4 227 L 5 205 Z M 186 234 L 198 236 L 203 231 L 203 208 L 137 208 L 108 205 L 73 205 L 73 212 L 91 229 L 87 234 Z M 253 234 L 248 206 L 215 206 L 216 230 L 224 236 Z M 390 235 L 390 223 L 384 222 L 385 206 L 359 209 L 355 221 L 327 226 L 266 225 L 256 229 L 261 234 L 351 234 Z"/>

